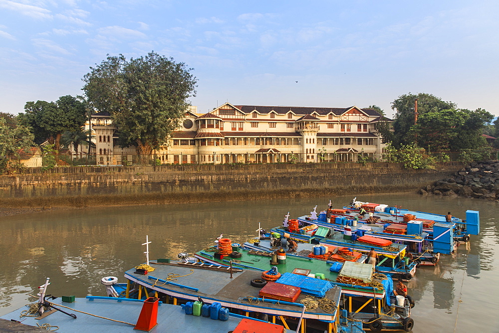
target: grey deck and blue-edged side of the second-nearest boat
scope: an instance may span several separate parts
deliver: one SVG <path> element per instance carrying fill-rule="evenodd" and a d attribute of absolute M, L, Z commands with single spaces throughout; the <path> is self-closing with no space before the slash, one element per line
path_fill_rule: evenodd
<path fill-rule="evenodd" d="M 268 260 L 267 257 L 256 259 Z M 323 263 L 325 265 L 325 262 Z M 250 305 L 244 299 L 246 297 L 259 297 L 258 292 L 260 289 L 252 287 L 250 281 L 252 279 L 261 279 L 261 270 L 234 272 L 231 279 L 230 273 L 224 271 L 212 271 L 197 266 L 178 265 L 176 263 L 162 265 L 157 264 L 155 261 L 150 261 L 150 264 L 155 270 L 148 273 L 148 275 L 134 274 L 135 269 L 131 269 L 125 272 L 125 277 L 142 286 L 177 298 L 198 300 L 198 297 L 201 297 L 207 303 L 220 302 L 224 307 L 242 309 L 244 311 L 275 313 L 275 315 L 288 315 L 291 317 L 299 317 L 301 314 L 301 306 L 282 303 L 272 304 L 262 301 L 257 305 Z M 240 268 L 234 265 L 234 269 Z M 192 274 L 190 274 L 191 270 L 194 271 Z M 163 285 L 163 282 L 158 282 L 156 286 L 153 286 L 157 278 L 167 280 L 173 274 L 178 277 L 171 281 L 172 284 Z M 326 293 L 326 298 L 339 302 L 340 294 L 341 288 L 335 287 Z M 305 294 L 300 295 L 296 303 L 305 297 Z M 305 314 L 305 318 L 334 321 L 332 317 L 334 314 L 325 313 L 320 308 L 306 311 Z"/>

